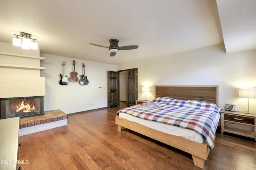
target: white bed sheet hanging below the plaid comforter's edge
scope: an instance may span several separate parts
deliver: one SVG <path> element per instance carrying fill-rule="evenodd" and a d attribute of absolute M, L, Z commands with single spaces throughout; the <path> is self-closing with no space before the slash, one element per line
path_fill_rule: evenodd
<path fill-rule="evenodd" d="M 148 121 L 148 120 L 140 119 L 138 117 L 135 117 L 135 116 L 132 116 L 132 115 L 129 115 L 126 113 L 122 113 L 122 112 L 119 113 L 119 117 L 123 118 L 123 119 L 127 119 L 127 120 L 135 122 L 135 123 L 139 123 L 140 125 L 144 125 L 146 127 L 155 129 L 157 131 L 168 133 L 170 135 L 183 137 L 183 138 L 186 138 L 191 141 L 198 142 L 198 143 L 204 143 L 203 137 L 200 134 L 198 134 L 195 131 L 192 131 L 190 129 L 184 129 L 181 127 L 176 127 L 176 126 L 172 126 L 172 125 L 168 125 L 168 124 L 160 123 L 160 122 L 156 122 L 156 121 Z"/>

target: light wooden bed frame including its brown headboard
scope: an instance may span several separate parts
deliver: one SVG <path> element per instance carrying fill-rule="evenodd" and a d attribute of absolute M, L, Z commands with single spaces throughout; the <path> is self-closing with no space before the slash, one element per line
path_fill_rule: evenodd
<path fill-rule="evenodd" d="M 155 86 L 155 97 L 166 96 L 183 100 L 202 100 L 218 104 L 218 86 Z M 188 139 L 163 133 L 138 123 L 128 121 L 116 116 L 118 131 L 123 127 L 170 145 L 174 148 L 192 154 L 194 165 L 204 168 L 204 161 L 207 160 L 210 148 L 203 144 Z"/>

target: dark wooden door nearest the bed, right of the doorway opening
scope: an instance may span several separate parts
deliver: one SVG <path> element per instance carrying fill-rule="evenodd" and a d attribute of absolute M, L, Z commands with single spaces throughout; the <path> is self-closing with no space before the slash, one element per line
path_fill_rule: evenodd
<path fill-rule="evenodd" d="M 127 70 L 127 95 L 126 104 L 127 106 L 136 105 L 138 99 L 138 68 Z"/>

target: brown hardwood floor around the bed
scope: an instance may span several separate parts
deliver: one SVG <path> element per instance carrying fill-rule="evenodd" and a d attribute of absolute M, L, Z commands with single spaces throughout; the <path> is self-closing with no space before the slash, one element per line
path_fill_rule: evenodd
<path fill-rule="evenodd" d="M 22 170 L 200 170 L 186 152 L 117 131 L 122 107 L 68 115 L 67 126 L 20 137 Z M 217 133 L 204 169 L 255 170 L 255 141 Z"/>

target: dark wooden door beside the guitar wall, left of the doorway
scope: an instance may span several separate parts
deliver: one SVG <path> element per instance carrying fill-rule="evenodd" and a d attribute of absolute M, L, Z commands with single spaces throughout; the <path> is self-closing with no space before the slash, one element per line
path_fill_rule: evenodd
<path fill-rule="evenodd" d="M 108 108 L 119 106 L 118 72 L 108 71 Z"/>

